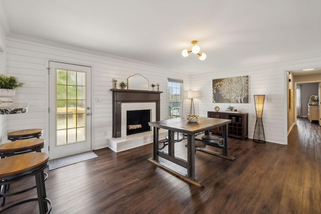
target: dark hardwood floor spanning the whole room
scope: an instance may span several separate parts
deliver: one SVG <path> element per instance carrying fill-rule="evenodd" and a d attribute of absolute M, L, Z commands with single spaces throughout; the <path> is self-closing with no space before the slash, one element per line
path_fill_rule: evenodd
<path fill-rule="evenodd" d="M 203 188 L 147 161 L 152 144 L 95 150 L 98 158 L 48 172 L 51 213 L 321 213 L 321 129 L 306 118 L 297 123 L 288 145 L 229 138 L 235 161 L 197 151 Z M 177 155 L 185 155 L 184 144 L 175 144 Z M 35 196 L 32 190 L 8 197 L 6 206 Z M 4 213 L 37 212 L 37 202 L 30 202 Z"/>

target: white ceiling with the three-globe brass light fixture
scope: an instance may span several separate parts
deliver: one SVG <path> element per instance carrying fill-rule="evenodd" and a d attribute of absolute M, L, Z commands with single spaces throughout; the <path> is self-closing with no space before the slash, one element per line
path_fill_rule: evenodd
<path fill-rule="evenodd" d="M 186 72 L 321 52 L 320 0 L 0 1 L 8 35 Z M 207 55 L 205 61 L 194 54 L 182 57 L 183 49 L 191 49 L 192 40 L 199 41 L 201 52 Z"/>

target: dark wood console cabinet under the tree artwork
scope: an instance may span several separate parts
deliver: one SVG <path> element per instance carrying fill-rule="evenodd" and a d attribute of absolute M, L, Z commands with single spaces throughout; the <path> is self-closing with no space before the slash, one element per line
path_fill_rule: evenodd
<path fill-rule="evenodd" d="M 228 124 L 228 136 L 241 138 L 242 140 L 248 138 L 248 113 L 208 111 L 207 117 L 232 120 L 232 122 Z M 213 134 L 222 134 L 222 127 L 211 129 L 210 132 Z"/>

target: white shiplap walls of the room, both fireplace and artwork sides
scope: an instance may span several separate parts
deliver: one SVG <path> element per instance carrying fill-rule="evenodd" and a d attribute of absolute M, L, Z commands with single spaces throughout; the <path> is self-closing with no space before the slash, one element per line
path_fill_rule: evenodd
<path fill-rule="evenodd" d="M 221 110 L 231 104 L 212 103 L 212 80 L 235 76 L 249 76 L 249 103 L 232 104 L 235 108 L 249 113 L 249 137 L 253 136 L 255 111 L 253 95 L 265 94 L 263 125 L 266 141 L 281 144 L 287 143 L 287 79 L 286 71 L 310 67 L 321 67 L 321 55 L 304 56 L 295 60 L 283 60 L 264 63 L 257 66 L 235 69 L 213 69 L 203 73 L 186 75 L 173 72 L 146 63 L 127 60 L 119 57 L 62 47 L 54 44 L 43 44 L 22 38 L 7 38 L 6 73 L 17 76 L 26 84 L 17 90 L 13 99 L 16 102 L 28 102 L 26 114 L 10 115 L 3 120 L 3 130 L 9 131 L 24 128 L 43 128 L 44 138 L 48 140 L 48 61 L 58 61 L 87 65 L 92 67 L 92 148 L 107 146 L 107 138 L 112 133 L 112 93 L 113 78 L 126 81 L 127 77 L 139 73 L 149 83 L 160 83 L 161 119 L 167 119 L 167 78 L 184 80 L 184 91 L 197 90 L 201 95 L 195 99 L 196 113 L 206 117 L 207 111 L 220 106 Z M 193 82 L 190 84 L 190 80 Z M 95 103 L 96 98 L 103 98 L 102 103 Z M 189 112 L 190 100 L 184 98 L 183 115 Z M 4 118 L 4 117 L 2 117 Z M 0 122 L 1 124 L 1 122 Z M 4 125 L 5 124 L 5 125 Z M 8 127 L 7 127 L 8 126 Z M 105 136 L 105 132 L 107 135 Z M 4 136 L 3 136 L 4 139 Z M 48 145 L 48 143 L 47 143 Z"/>

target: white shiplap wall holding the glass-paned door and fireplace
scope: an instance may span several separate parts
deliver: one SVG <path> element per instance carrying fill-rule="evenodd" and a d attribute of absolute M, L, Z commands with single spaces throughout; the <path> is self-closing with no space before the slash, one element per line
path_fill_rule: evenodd
<path fill-rule="evenodd" d="M 189 84 L 189 76 L 186 74 L 133 60 L 21 38 L 7 38 L 6 44 L 7 74 L 17 76 L 20 81 L 25 82 L 24 87 L 17 89 L 16 96 L 12 99 L 15 102 L 29 103 L 28 113 L 8 116 L 8 132 L 43 128 L 43 138 L 47 142 L 49 81 L 46 68 L 49 61 L 92 67 L 92 149 L 106 147 L 107 139 L 112 137 L 110 89 L 113 88 L 114 78 L 117 78 L 119 83 L 122 80 L 126 81 L 127 77 L 133 74 L 141 74 L 149 80 L 149 84 L 159 83 L 160 90 L 164 92 L 161 94 L 161 119 L 168 118 L 167 78 L 182 79 Z M 102 98 L 103 102 L 95 103 L 96 98 Z M 48 144 L 46 143 L 47 146 Z"/>

